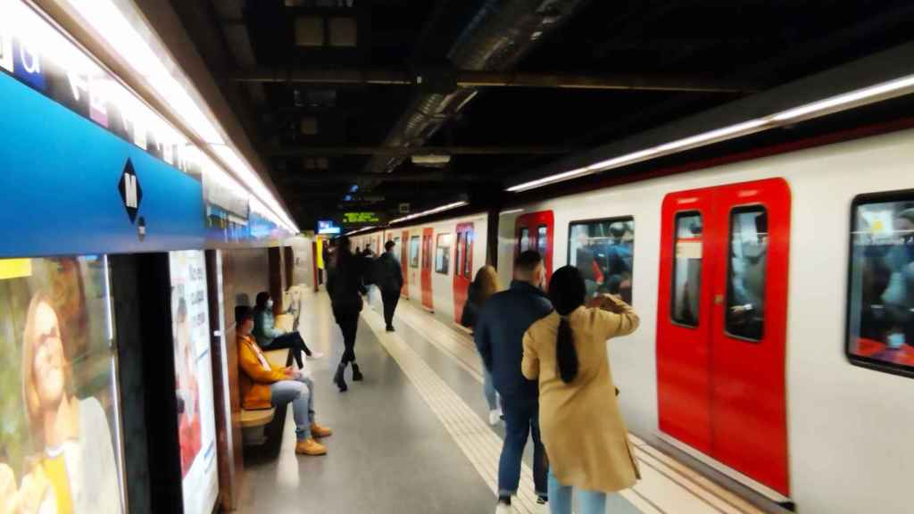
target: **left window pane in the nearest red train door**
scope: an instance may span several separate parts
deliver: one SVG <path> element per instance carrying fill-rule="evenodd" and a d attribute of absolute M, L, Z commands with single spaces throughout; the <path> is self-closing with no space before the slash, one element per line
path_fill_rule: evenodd
<path fill-rule="evenodd" d="M 701 213 L 676 214 L 675 229 L 673 321 L 686 327 L 697 327 L 703 246 Z"/>

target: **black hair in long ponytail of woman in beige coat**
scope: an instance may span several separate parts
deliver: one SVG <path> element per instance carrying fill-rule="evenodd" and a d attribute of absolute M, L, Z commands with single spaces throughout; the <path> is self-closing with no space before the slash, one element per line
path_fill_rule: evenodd
<path fill-rule="evenodd" d="M 558 316 L 558 336 L 556 337 L 556 361 L 558 375 L 562 381 L 569 383 L 578 376 L 578 350 L 574 348 L 574 333 L 571 331 L 568 315 L 579 306 L 584 305 L 587 296 L 587 285 L 574 266 L 562 266 L 552 273 L 549 282 L 549 299 Z"/>

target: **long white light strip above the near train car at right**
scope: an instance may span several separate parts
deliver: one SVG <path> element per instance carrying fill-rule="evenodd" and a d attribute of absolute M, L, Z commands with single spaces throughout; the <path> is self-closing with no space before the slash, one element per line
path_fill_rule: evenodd
<path fill-rule="evenodd" d="M 699 146 L 710 145 L 734 139 L 739 136 L 754 134 L 768 130 L 777 126 L 789 123 L 797 123 L 803 120 L 824 116 L 832 112 L 846 111 L 854 107 L 859 107 L 869 103 L 881 102 L 903 96 L 914 91 L 914 75 L 902 77 L 895 80 L 888 80 L 873 86 L 860 90 L 850 91 L 835 95 L 817 102 L 807 103 L 799 107 L 793 107 L 786 111 L 776 112 L 768 116 L 752 119 L 742 123 L 736 123 L 726 127 L 692 135 L 683 139 L 677 139 L 664 145 L 652 146 L 631 154 L 620 155 L 605 161 L 600 161 L 590 166 L 572 169 L 557 175 L 537 178 L 505 190 L 511 192 L 528 191 L 537 187 L 563 182 L 572 178 L 592 175 L 600 171 L 606 171 L 617 167 L 632 165 L 638 162 L 653 159 L 663 155 L 671 155 Z"/>

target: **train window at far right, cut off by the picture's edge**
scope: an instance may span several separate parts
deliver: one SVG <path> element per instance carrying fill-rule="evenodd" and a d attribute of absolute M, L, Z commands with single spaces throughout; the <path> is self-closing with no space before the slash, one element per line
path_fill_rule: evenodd
<path fill-rule="evenodd" d="M 914 193 L 854 200 L 847 355 L 851 362 L 914 373 Z"/>

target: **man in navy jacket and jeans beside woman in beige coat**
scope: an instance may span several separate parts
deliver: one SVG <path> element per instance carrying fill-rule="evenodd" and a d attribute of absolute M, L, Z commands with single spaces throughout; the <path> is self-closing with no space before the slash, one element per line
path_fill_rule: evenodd
<path fill-rule="evenodd" d="M 474 339 L 485 369 L 492 373 L 495 391 L 502 395 L 505 444 L 498 462 L 496 514 L 512 512 L 511 497 L 520 484 L 521 459 L 527 435 L 533 437 L 533 480 L 540 504 L 547 501 L 546 455 L 539 437 L 537 382 L 521 374 L 526 329 L 547 316 L 552 305 L 538 287 L 543 279 L 539 253 L 522 252 L 515 260 L 510 289 L 492 295 L 476 322 Z"/>

